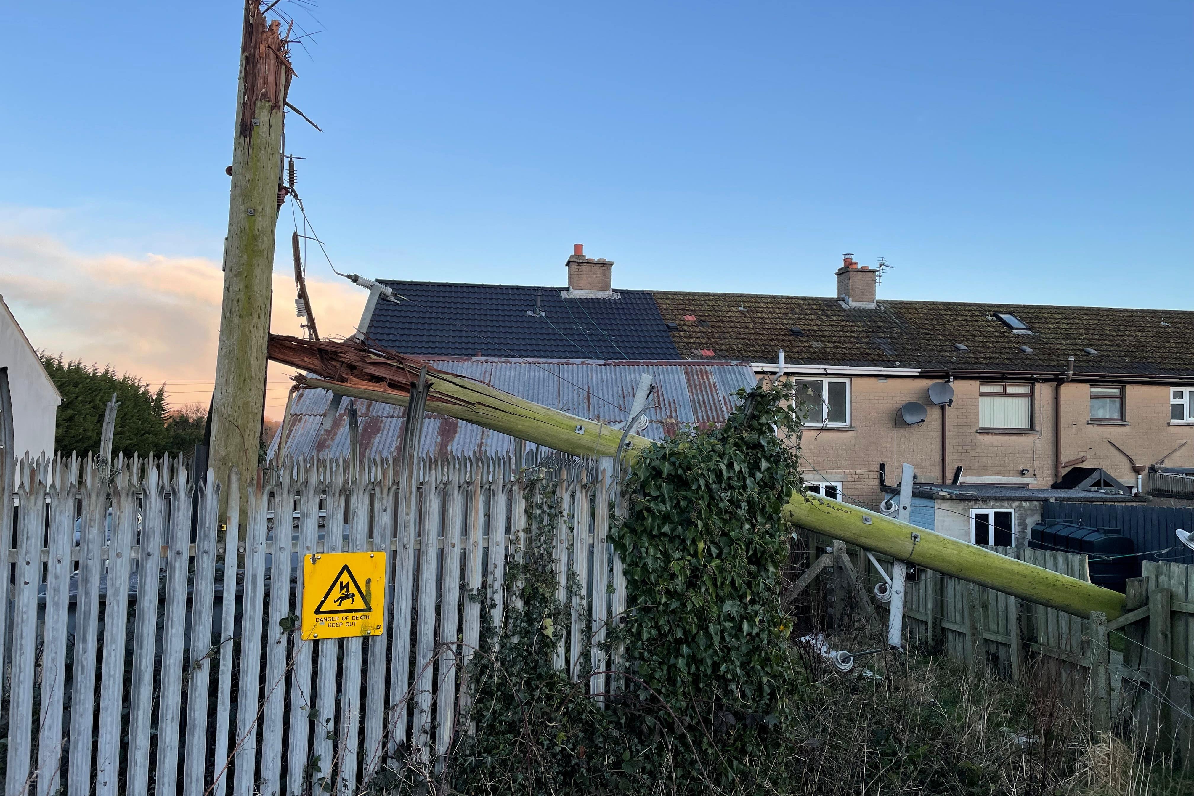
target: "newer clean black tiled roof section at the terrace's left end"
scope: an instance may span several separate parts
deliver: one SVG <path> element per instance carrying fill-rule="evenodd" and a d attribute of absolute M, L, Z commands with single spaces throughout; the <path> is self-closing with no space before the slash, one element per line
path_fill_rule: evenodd
<path fill-rule="evenodd" d="M 414 356 L 682 359 L 650 292 L 561 298 L 564 288 L 383 280 L 369 335 Z M 535 315 L 536 301 L 542 315 Z"/>

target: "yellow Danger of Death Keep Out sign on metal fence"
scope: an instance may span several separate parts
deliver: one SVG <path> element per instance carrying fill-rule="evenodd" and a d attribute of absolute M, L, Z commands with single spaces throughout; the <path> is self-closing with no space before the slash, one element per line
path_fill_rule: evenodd
<path fill-rule="evenodd" d="M 378 636 L 384 627 L 386 554 L 303 556 L 302 637 Z"/>

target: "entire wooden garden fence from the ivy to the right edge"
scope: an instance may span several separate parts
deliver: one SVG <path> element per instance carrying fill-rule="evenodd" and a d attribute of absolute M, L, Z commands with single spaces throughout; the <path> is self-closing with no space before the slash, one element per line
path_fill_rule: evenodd
<path fill-rule="evenodd" d="M 1001 555 L 1090 580 L 1087 556 L 1028 548 Z M 824 555 L 819 551 L 825 550 Z M 807 563 L 801 566 L 801 561 Z M 890 559 L 875 562 L 890 566 Z M 841 564 L 841 566 L 837 566 Z M 1127 612 L 1108 621 L 1072 616 L 993 588 L 917 568 L 905 587 L 904 634 L 919 652 L 965 661 L 986 675 L 1030 683 L 1114 732 L 1194 771 L 1194 566 L 1143 562 L 1130 579 Z M 818 582 L 819 590 L 810 588 Z M 864 550 L 816 533 L 795 535 L 786 601 L 831 630 L 887 627 L 872 588 L 884 579 Z"/>

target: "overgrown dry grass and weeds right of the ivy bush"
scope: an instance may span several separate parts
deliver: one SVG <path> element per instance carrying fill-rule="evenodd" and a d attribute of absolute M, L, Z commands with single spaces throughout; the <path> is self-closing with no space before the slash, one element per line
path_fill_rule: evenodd
<path fill-rule="evenodd" d="M 1177 796 L 1171 760 L 1091 732 L 1048 677 L 1023 685 L 940 656 L 864 659 L 841 674 L 817 653 L 786 749 L 793 794 Z"/>

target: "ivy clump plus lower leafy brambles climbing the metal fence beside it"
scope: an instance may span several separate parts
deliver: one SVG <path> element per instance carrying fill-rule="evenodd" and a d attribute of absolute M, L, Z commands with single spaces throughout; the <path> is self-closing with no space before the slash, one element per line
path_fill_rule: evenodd
<path fill-rule="evenodd" d="M 780 508 L 800 475 L 777 432 L 796 427 L 783 388 L 739 397 L 725 426 L 651 448 L 626 476 L 611 541 L 629 611 L 608 640 L 624 671 L 604 709 L 587 678 L 553 666 L 568 622 L 552 560 L 561 507 L 528 485 L 523 559 L 506 576 L 515 599 L 469 666 L 476 727 L 444 772 L 451 791 L 782 792 L 774 747 L 789 742 L 800 678 L 780 610 Z"/>

